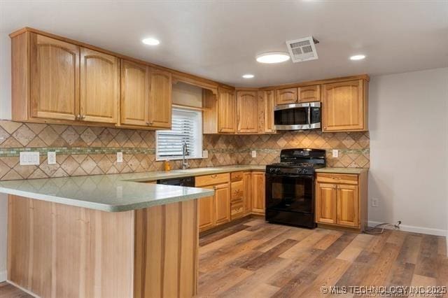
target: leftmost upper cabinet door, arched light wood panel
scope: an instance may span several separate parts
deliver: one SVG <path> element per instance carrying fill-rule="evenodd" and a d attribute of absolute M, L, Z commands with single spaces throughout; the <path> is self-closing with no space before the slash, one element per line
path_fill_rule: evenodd
<path fill-rule="evenodd" d="M 31 33 L 31 115 L 76 120 L 79 108 L 79 47 Z"/>

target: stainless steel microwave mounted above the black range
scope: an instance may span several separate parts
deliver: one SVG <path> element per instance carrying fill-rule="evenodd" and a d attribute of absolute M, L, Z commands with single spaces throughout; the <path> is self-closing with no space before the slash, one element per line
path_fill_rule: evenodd
<path fill-rule="evenodd" d="M 276 130 L 305 130 L 321 128 L 321 103 L 281 104 L 274 108 Z"/>

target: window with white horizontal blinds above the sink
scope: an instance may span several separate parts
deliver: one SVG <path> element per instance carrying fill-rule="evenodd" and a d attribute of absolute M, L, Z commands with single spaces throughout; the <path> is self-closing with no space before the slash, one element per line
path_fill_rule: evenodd
<path fill-rule="evenodd" d="M 172 129 L 156 133 L 157 159 L 181 159 L 183 143 L 187 145 L 187 158 L 202 157 L 202 112 L 173 109 Z"/>

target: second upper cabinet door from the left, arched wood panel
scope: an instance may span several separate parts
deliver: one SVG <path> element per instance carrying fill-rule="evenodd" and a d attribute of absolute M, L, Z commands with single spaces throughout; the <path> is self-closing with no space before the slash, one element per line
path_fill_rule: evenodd
<path fill-rule="evenodd" d="M 119 59 L 81 48 L 80 120 L 116 123 L 120 98 Z"/>

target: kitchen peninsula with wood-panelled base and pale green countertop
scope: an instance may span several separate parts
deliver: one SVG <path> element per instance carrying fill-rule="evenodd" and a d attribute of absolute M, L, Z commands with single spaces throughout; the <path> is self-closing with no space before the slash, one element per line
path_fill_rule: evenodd
<path fill-rule="evenodd" d="M 41 297 L 194 296 L 197 199 L 214 190 L 135 181 L 157 178 L 2 181 L 8 280 Z"/>

